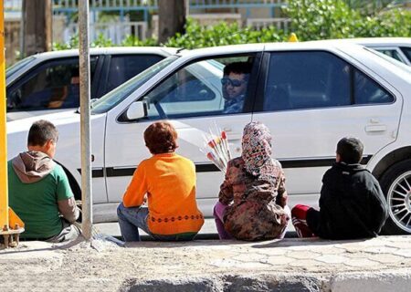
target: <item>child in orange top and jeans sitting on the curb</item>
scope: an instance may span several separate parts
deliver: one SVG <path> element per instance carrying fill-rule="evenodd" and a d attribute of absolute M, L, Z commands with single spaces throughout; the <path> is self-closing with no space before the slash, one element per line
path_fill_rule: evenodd
<path fill-rule="evenodd" d="M 156 240 L 192 240 L 204 224 L 195 201 L 195 165 L 176 154 L 177 132 L 165 121 L 144 131 L 153 156 L 144 160 L 117 208 L 121 236 L 140 241 L 138 228 Z M 142 206 L 147 195 L 148 207 Z"/>

